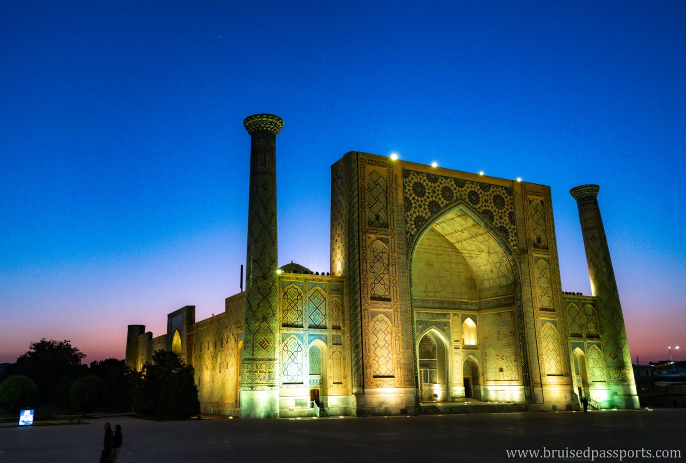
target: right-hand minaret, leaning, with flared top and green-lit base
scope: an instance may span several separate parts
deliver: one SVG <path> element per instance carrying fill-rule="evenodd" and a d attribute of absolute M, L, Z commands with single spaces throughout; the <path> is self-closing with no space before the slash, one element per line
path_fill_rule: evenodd
<path fill-rule="evenodd" d="M 598 185 L 581 185 L 569 190 L 579 208 L 581 232 L 584 236 L 586 260 L 589 265 L 591 292 L 597 298 L 600 339 L 607 366 L 609 401 L 617 408 L 639 408 L 631 355 L 626 341 L 622 305 L 619 304 L 617 282 L 610 260 L 610 250 L 598 207 Z"/>

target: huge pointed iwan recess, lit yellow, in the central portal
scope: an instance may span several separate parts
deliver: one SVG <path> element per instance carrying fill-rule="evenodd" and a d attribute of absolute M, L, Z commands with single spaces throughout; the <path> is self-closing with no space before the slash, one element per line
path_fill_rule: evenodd
<path fill-rule="evenodd" d="M 428 221 L 411 249 L 420 401 L 525 401 L 519 272 L 498 232 L 458 203 Z"/>

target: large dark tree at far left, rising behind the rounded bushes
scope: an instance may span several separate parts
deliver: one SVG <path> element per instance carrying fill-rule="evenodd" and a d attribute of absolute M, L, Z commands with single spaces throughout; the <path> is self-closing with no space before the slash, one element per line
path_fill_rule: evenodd
<path fill-rule="evenodd" d="M 62 377 L 82 377 L 86 366 L 81 360 L 86 357 L 69 340 L 41 339 L 29 345 L 29 351 L 22 354 L 16 363 L 7 368 L 7 375 L 24 375 L 34 381 L 40 392 L 40 401 L 49 402 L 54 388 Z"/>

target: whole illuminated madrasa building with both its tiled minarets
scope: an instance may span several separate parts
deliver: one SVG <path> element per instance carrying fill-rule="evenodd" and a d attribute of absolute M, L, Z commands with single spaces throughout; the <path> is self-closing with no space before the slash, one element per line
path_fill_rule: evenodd
<path fill-rule="evenodd" d="M 283 121 L 244 126 L 245 291 L 202 321 L 171 312 L 156 338 L 129 325 L 128 366 L 174 351 L 202 412 L 241 418 L 639 408 L 598 185 L 570 190 L 586 296 L 561 288 L 549 186 L 346 153 L 331 166 L 331 268 L 314 273 L 277 263 Z"/>

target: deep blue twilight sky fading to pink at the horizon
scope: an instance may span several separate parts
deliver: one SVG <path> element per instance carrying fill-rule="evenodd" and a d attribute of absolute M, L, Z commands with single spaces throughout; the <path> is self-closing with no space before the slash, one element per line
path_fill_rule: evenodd
<path fill-rule="evenodd" d="M 686 4 L 0 2 L 0 362 L 40 338 L 123 358 L 126 325 L 224 310 L 250 138 L 277 138 L 279 263 L 329 271 L 348 151 L 551 186 L 563 290 L 590 294 L 569 188 L 600 209 L 632 358 L 686 360 Z"/>

